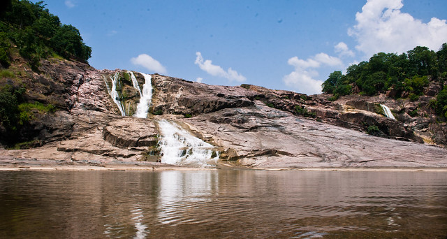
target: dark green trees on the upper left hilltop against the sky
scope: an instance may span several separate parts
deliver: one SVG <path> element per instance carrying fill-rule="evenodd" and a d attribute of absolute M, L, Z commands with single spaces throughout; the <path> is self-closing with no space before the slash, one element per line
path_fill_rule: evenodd
<path fill-rule="evenodd" d="M 8 0 L 0 12 L 0 64 L 10 65 L 11 46 L 36 68 L 41 58 L 60 55 L 87 62 L 91 48 L 82 42 L 78 29 L 61 24 L 43 1 Z"/>

